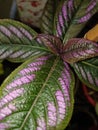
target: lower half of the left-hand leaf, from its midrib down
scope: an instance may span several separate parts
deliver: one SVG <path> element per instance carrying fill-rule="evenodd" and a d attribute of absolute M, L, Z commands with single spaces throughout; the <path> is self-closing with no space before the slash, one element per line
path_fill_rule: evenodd
<path fill-rule="evenodd" d="M 18 44 L 3 44 L 0 45 L 0 61 L 7 59 L 11 62 L 24 62 L 36 55 L 49 53 L 45 47 L 38 45 L 18 45 Z"/>

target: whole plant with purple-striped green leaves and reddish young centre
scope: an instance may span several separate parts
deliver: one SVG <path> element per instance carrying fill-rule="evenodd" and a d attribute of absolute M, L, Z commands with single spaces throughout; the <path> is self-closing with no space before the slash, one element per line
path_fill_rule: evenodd
<path fill-rule="evenodd" d="M 75 38 L 97 0 L 48 0 L 41 33 L 0 20 L 0 60 L 21 62 L 0 87 L 0 129 L 64 130 L 73 113 L 75 75 L 98 91 L 98 44 Z"/>

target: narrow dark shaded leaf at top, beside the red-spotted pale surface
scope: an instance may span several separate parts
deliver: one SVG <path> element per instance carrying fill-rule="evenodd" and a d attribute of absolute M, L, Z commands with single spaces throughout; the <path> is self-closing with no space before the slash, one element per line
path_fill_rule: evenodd
<path fill-rule="evenodd" d="M 54 34 L 54 18 L 59 0 L 48 0 L 41 19 L 41 30 L 45 34 Z"/>

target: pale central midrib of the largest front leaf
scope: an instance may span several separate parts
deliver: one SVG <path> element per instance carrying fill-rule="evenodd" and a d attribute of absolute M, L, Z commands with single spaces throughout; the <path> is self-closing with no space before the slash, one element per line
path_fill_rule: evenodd
<path fill-rule="evenodd" d="M 55 69 L 55 67 L 56 67 L 58 61 L 59 61 L 59 58 L 57 57 L 57 58 L 54 60 L 53 66 L 51 67 L 50 72 L 49 72 L 49 74 L 48 74 L 48 76 L 47 76 L 47 78 L 46 78 L 46 80 L 45 80 L 45 82 L 44 82 L 44 84 L 43 84 L 41 90 L 40 90 L 39 93 L 38 93 L 38 96 L 36 97 L 35 101 L 33 102 L 32 106 L 31 106 L 30 110 L 28 111 L 28 113 L 27 113 L 27 115 L 26 115 L 26 117 L 25 117 L 25 119 L 24 119 L 24 121 L 23 121 L 23 123 L 22 123 L 22 125 L 21 125 L 21 127 L 20 127 L 19 130 L 23 130 L 23 127 L 24 127 L 25 123 L 27 122 L 27 120 L 28 120 L 28 118 L 29 118 L 29 116 L 30 116 L 30 114 L 31 114 L 31 112 L 32 112 L 32 110 L 33 110 L 33 107 L 35 106 L 36 102 L 38 101 L 38 99 L 39 99 L 39 97 L 40 97 L 40 95 L 41 95 L 41 93 L 42 93 L 42 91 L 44 90 L 44 88 L 45 88 L 45 86 L 46 86 L 46 84 L 47 84 L 47 81 L 48 81 L 49 78 L 51 77 L 51 75 L 52 75 L 52 73 L 53 73 L 53 71 L 54 71 L 54 69 Z"/>

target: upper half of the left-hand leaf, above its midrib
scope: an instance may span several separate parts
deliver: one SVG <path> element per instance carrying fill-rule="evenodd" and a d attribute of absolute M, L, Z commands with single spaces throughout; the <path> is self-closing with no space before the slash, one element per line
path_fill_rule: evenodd
<path fill-rule="evenodd" d="M 22 43 L 32 44 L 32 40 L 37 35 L 29 26 L 9 19 L 0 20 L 0 44 L 2 43 Z"/>

